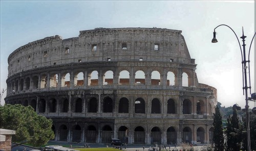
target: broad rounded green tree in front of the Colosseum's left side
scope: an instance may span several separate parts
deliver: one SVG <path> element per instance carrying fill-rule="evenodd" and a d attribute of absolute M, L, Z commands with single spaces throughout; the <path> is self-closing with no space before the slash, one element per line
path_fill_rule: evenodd
<path fill-rule="evenodd" d="M 54 138 L 52 120 L 34 112 L 31 106 L 0 106 L 0 127 L 15 130 L 14 142 L 28 142 L 34 145 L 46 144 Z"/>

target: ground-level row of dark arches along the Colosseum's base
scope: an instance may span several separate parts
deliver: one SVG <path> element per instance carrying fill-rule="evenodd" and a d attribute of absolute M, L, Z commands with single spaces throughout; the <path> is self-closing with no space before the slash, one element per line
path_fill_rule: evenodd
<path fill-rule="evenodd" d="M 213 136 L 212 119 L 52 119 L 56 141 L 110 144 L 117 138 L 126 144 L 204 144 Z"/>

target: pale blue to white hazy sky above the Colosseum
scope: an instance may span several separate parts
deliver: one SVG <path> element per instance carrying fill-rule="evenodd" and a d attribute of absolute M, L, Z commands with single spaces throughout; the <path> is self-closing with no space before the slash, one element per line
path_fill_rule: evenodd
<path fill-rule="evenodd" d="M 255 1 L 0 1 L 0 89 L 7 88 L 8 56 L 19 46 L 49 36 L 78 37 L 95 28 L 166 28 L 181 30 L 199 83 L 218 90 L 218 102 L 245 107 L 240 43 L 247 36 L 246 57 L 255 33 Z M 255 38 L 250 51 L 255 92 Z M 247 58 L 248 60 L 248 58 Z M 248 71 L 248 69 L 247 69 Z M 247 73 L 248 77 L 248 73 Z M 249 95 L 249 93 L 248 93 Z M 1 104 L 4 103 L 3 93 Z M 250 95 L 249 95 L 250 96 Z M 255 107 L 249 102 L 250 108 Z"/>

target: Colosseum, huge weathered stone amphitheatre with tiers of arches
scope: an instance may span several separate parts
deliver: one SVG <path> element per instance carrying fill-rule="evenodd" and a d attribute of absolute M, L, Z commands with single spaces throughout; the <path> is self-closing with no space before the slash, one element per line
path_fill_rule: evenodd
<path fill-rule="evenodd" d="M 96 28 L 8 58 L 7 104 L 53 120 L 54 140 L 209 143 L 217 90 L 198 82 L 182 31 Z"/>

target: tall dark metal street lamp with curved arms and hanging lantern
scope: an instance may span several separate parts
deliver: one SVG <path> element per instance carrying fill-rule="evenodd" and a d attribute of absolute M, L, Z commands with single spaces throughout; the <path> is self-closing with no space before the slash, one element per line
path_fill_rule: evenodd
<path fill-rule="evenodd" d="M 220 26 L 226 26 L 229 29 L 231 29 L 226 24 L 220 24 L 219 26 L 217 26 L 214 29 L 214 38 L 212 38 L 212 40 L 211 40 L 212 43 L 218 42 L 218 40 L 216 39 L 215 30 Z M 237 34 L 234 31 L 233 31 L 233 33 L 234 33 L 234 35 L 236 35 L 236 37 L 238 39 Z M 253 41 L 253 38 L 254 38 L 255 34 L 253 35 L 253 37 L 251 39 L 251 44 L 252 44 L 252 41 Z M 243 41 L 243 45 L 242 45 L 243 46 L 243 52 L 242 52 L 241 44 L 240 44 L 239 39 L 238 39 L 238 43 L 239 43 L 240 51 L 241 51 L 241 55 L 242 55 L 243 93 L 245 93 L 245 101 L 246 101 L 245 109 L 246 109 L 246 129 L 247 129 L 247 150 L 251 150 L 251 147 L 250 147 L 249 106 L 248 106 L 248 94 L 247 94 L 247 89 L 248 88 L 250 89 L 250 93 L 251 93 L 251 84 L 250 84 L 250 49 L 251 49 L 251 44 L 250 44 L 250 48 L 249 48 L 248 60 L 246 60 L 245 43 L 244 43 L 246 36 L 244 36 L 244 29 L 243 29 L 243 35 L 240 38 L 242 38 L 242 41 Z M 247 62 L 248 62 L 248 67 L 249 67 L 249 87 L 247 87 L 247 74 L 246 74 L 246 70 L 247 70 L 246 63 Z M 244 90 L 245 90 L 245 92 L 244 92 Z"/>

